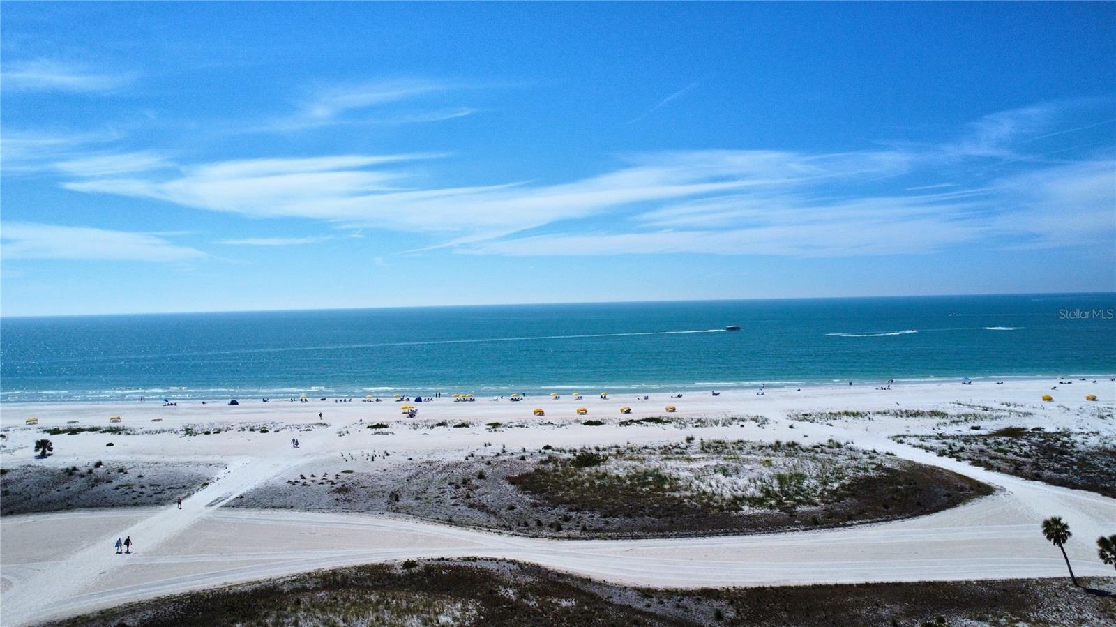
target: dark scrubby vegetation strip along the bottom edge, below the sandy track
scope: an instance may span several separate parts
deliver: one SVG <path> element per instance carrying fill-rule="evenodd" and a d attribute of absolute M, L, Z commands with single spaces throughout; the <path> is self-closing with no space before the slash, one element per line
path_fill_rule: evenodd
<path fill-rule="evenodd" d="M 1093 578 L 1110 588 L 1114 578 Z M 535 565 L 408 560 L 326 570 L 112 608 L 54 627 L 578 625 L 1108 625 L 1113 597 L 1061 579 L 696 590 L 628 588 Z"/>

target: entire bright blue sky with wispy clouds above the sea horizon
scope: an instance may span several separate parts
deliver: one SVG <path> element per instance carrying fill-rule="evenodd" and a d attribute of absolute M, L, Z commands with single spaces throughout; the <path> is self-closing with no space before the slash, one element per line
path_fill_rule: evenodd
<path fill-rule="evenodd" d="M 1114 3 L 11 3 L 3 315 L 1116 290 Z"/>

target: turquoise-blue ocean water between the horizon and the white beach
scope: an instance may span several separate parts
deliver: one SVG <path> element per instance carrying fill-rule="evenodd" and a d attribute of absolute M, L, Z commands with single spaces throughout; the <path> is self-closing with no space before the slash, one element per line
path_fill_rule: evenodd
<path fill-rule="evenodd" d="M 1090 293 L 3 318 L 0 399 L 1099 376 L 1114 309 Z"/>

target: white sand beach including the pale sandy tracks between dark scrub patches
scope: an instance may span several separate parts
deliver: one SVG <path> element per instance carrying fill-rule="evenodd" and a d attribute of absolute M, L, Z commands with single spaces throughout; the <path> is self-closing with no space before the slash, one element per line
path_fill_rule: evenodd
<path fill-rule="evenodd" d="M 1116 440 L 1116 384 L 1088 377 L 1071 385 L 1046 378 L 873 386 L 769 388 L 686 393 L 682 398 L 651 394 L 598 397 L 583 390 L 574 401 L 528 397 L 439 398 L 403 416 L 400 403 L 307 403 L 240 398 L 158 402 L 4 404 L 6 436 L 0 462 L 6 470 L 27 466 L 86 469 L 127 463 L 217 464 L 217 475 L 182 503 L 173 492 L 160 507 L 114 507 L 4 515 L 0 519 L 0 623 L 28 625 L 98 608 L 231 582 L 312 569 L 424 557 L 497 557 L 536 562 L 613 582 L 661 587 L 758 586 L 812 582 L 921 581 L 1062 577 L 1060 552 L 1039 532 L 1050 515 L 1072 532 L 1066 546 L 1078 576 L 1107 576 L 1093 541 L 1116 532 L 1116 499 L 1021 479 L 898 443 L 901 434 L 972 434 L 1001 427 L 1042 427 L 1083 438 Z M 1094 383 L 1096 379 L 1096 383 Z M 1051 387 L 1057 389 L 1051 390 Z M 462 390 L 469 392 L 469 390 Z M 1051 402 L 1041 396 L 1049 394 Z M 1096 395 L 1097 401 L 1086 401 Z M 622 426 L 620 419 L 661 416 L 671 424 Z M 588 414 L 578 416 L 577 407 Z M 622 406 L 632 407 L 620 415 Z M 532 415 L 542 408 L 545 416 Z M 939 411 L 905 417 L 897 409 Z M 830 414 L 817 422 L 804 413 Z M 320 413 L 320 417 L 319 417 Z M 50 427 L 113 426 L 131 433 L 44 435 Z M 26 425 L 27 417 L 39 418 Z M 763 416 L 767 421 L 733 419 Z M 585 419 L 604 424 L 589 426 Z M 437 422 L 446 426 L 435 426 Z M 507 428 L 492 431 L 487 423 Z M 385 423 L 379 433 L 364 428 Z M 452 425 L 469 423 L 453 428 Z M 241 430 L 243 427 L 243 430 Z M 267 432 L 260 432 L 266 427 Z M 198 435 L 186 435 L 186 430 Z M 254 428 L 254 431 L 251 431 Z M 220 433 L 213 433 L 220 430 Z M 209 431 L 210 434 L 204 434 Z M 375 464 L 417 464 L 462 459 L 474 452 L 705 440 L 797 441 L 834 438 L 897 457 L 944 467 L 998 490 L 937 513 L 882 523 L 817 531 L 714 538 L 645 540 L 554 540 L 439 524 L 413 518 L 335 512 L 227 508 L 238 496 L 289 472 L 333 469 L 338 460 L 375 451 Z M 54 454 L 37 459 L 35 441 L 49 437 Z M 299 440 L 294 447 L 291 438 Z M 112 443 L 112 446 L 106 446 Z M 383 452 L 389 456 L 383 457 Z M 135 541 L 133 554 L 118 556 L 118 537 Z"/>

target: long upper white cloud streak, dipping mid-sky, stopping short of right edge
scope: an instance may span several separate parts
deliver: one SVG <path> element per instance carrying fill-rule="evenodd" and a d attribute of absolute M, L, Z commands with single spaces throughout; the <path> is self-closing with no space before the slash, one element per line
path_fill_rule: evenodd
<path fill-rule="evenodd" d="M 684 151 L 629 155 L 627 167 L 564 184 L 426 187 L 398 166 L 427 156 L 218 162 L 186 166 L 170 179 L 96 177 L 64 186 L 252 216 L 456 233 L 450 243 L 455 245 L 638 203 L 878 175 L 905 168 L 907 162 L 893 153 Z"/>

